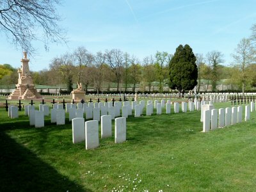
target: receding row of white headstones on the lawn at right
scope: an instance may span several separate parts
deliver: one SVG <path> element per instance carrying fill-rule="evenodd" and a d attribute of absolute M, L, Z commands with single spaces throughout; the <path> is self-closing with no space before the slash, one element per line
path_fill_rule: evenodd
<path fill-rule="evenodd" d="M 244 121 L 250 120 L 250 112 L 253 111 L 255 111 L 254 102 L 251 102 L 250 106 L 245 106 Z M 213 109 L 212 105 L 204 105 L 202 106 L 202 113 L 203 132 L 241 123 L 243 120 L 243 106 L 220 108 L 218 110 Z"/>

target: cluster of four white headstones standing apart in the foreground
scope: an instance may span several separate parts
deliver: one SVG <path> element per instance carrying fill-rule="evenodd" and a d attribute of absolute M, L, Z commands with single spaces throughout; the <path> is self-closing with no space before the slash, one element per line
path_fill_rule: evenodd
<path fill-rule="evenodd" d="M 103 115 L 101 118 L 101 138 L 112 136 L 111 115 Z M 73 143 L 85 141 L 85 148 L 99 147 L 99 121 L 90 120 L 84 123 L 84 118 L 72 119 Z M 126 118 L 115 118 L 115 143 L 126 141 Z"/>

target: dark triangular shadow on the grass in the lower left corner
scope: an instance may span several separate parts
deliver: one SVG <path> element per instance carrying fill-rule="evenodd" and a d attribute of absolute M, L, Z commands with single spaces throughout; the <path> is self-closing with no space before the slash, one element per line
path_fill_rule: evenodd
<path fill-rule="evenodd" d="M 60 175 L 3 131 L 0 138 L 0 191 L 91 191 Z"/>

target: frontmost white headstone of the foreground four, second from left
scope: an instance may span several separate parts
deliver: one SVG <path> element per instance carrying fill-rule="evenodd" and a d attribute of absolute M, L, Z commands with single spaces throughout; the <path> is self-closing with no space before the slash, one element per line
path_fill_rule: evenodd
<path fill-rule="evenodd" d="M 87 150 L 96 147 L 99 147 L 99 122 L 85 122 L 85 148 Z"/>

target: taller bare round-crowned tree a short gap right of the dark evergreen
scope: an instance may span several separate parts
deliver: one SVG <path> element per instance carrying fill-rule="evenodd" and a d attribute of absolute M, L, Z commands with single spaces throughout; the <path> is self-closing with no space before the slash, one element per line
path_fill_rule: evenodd
<path fill-rule="evenodd" d="M 217 81 L 219 80 L 218 67 L 223 63 L 223 54 L 220 51 L 207 52 L 206 58 L 211 67 L 212 91 L 216 91 Z"/>

